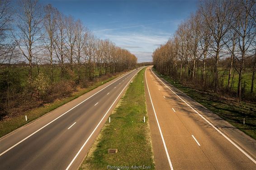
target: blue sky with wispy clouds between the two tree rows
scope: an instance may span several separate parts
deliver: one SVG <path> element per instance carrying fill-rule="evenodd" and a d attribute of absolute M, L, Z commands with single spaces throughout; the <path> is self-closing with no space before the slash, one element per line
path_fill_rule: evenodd
<path fill-rule="evenodd" d="M 198 2 L 170 0 L 41 0 L 65 15 L 79 18 L 96 37 L 128 49 L 138 62 L 152 61 L 152 52 L 173 35 Z"/>

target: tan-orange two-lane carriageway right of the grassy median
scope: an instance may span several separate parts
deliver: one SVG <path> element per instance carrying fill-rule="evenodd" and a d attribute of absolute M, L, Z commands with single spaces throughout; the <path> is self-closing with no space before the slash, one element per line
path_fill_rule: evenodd
<path fill-rule="evenodd" d="M 157 170 L 256 169 L 256 140 L 168 85 L 149 67 L 145 82 Z"/>

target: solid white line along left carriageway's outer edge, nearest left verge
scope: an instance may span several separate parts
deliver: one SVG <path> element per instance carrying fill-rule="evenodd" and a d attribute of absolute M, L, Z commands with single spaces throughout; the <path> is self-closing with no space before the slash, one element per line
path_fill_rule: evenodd
<path fill-rule="evenodd" d="M 132 73 L 135 70 L 130 71 L 127 74 Z M 120 77 L 119 79 L 123 78 L 124 76 L 126 76 L 127 74 L 123 75 L 122 77 Z M 115 83 L 116 81 L 118 81 L 119 79 L 115 80 L 113 83 Z M 111 83 L 111 84 L 113 84 Z M 72 107 L 70 110 L 74 109 L 75 107 L 81 105 L 83 102 L 87 101 L 88 99 L 90 99 L 92 96 L 96 95 L 97 93 L 101 92 L 102 90 L 104 90 L 105 88 L 109 87 L 111 84 L 109 84 L 108 86 L 104 87 L 103 89 L 101 89 L 100 91 L 94 93 L 93 95 L 91 95 L 90 97 L 88 97 L 87 99 L 85 99 L 84 101 L 82 101 L 81 103 L 77 104 L 76 106 Z M 8 149 L 6 149 L 4 152 L 0 153 L 0 156 L 4 155 L 6 152 L 8 152 L 9 150 L 11 150 L 12 148 L 16 147 L 17 145 L 19 145 L 21 142 L 24 142 L 26 139 L 30 138 L 31 136 L 33 136 L 35 133 L 38 133 L 40 130 L 42 130 L 43 128 L 45 128 L 46 126 L 48 126 L 49 124 L 51 124 L 52 122 L 54 122 L 55 120 L 59 119 L 60 117 L 62 117 L 63 115 L 66 115 L 66 113 L 68 113 L 70 110 L 67 110 L 65 113 L 63 113 L 62 115 L 58 116 L 57 118 L 53 119 L 51 122 L 47 123 L 46 125 L 44 125 L 42 128 L 38 129 L 37 131 L 31 133 L 30 135 L 28 135 L 26 138 L 22 139 L 21 141 L 19 141 L 18 143 L 14 144 L 12 147 L 9 147 Z"/>

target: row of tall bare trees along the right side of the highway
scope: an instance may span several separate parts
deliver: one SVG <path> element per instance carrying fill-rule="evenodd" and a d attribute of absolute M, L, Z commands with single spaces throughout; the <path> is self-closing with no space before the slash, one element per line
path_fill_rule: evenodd
<path fill-rule="evenodd" d="M 180 23 L 152 57 L 161 74 L 183 83 L 233 93 L 239 102 L 250 84 L 249 93 L 255 96 L 256 1 L 200 2 L 197 11 Z M 236 92 L 232 90 L 235 83 Z"/>

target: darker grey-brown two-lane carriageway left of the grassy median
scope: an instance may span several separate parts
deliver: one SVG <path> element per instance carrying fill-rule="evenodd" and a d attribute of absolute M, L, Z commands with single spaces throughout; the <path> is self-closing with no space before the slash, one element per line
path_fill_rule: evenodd
<path fill-rule="evenodd" d="M 0 170 L 77 169 L 140 69 L 119 76 L 1 138 Z"/>

